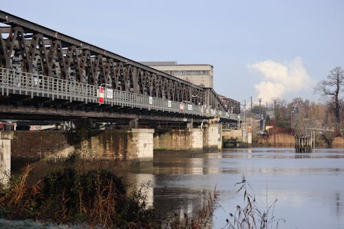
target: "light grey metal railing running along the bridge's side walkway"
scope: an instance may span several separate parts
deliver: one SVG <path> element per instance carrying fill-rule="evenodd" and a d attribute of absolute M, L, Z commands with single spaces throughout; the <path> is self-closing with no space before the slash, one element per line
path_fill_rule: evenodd
<path fill-rule="evenodd" d="M 1 94 L 6 96 L 9 94 L 20 94 L 31 96 L 32 98 L 40 96 L 52 98 L 52 100 L 69 100 L 70 102 L 98 103 L 99 97 L 99 87 L 96 85 L 76 83 L 71 80 L 3 68 L 0 68 L 0 90 Z M 106 94 L 107 90 L 111 93 Z M 104 104 L 237 120 L 236 115 L 233 113 L 208 109 L 206 105 L 193 105 L 116 89 L 105 88 Z"/>

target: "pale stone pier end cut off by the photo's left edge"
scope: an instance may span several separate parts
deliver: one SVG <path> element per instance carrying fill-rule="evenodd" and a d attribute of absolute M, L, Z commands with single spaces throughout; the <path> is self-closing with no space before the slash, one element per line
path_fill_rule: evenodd
<path fill-rule="evenodd" d="M 13 131 L 0 132 L 0 183 L 8 184 L 11 173 L 11 140 Z"/>

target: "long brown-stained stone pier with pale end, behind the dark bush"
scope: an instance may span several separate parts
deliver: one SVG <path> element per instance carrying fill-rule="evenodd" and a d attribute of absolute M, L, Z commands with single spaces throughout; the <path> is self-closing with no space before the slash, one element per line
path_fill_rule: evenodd
<path fill-rule="evenodd" d="M 12 159 L 37 161 L 79 153 L 85 159 L 153 159 L 153 129 L 15 131 Z"/>

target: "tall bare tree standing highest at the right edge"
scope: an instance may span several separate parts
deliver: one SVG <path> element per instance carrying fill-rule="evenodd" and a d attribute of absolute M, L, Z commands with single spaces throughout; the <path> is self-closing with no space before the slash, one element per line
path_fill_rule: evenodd
<path fill-rule="evenodd" d="M 329 101 L 336 120 L 336 131 L 340 134 L 341 123 L 341 97 L 339 94 L 344 88 L 344 70 L 341 67 L 334 67 L 326 80 L 319 82 L 314 88 L 316 94 L 320 94 Z"/>

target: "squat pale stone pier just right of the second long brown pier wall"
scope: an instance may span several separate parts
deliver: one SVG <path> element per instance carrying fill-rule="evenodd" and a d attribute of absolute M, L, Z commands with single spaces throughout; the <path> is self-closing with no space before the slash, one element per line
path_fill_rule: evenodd
<path fill-rule="evenodd" d="M 206 151 L 222 149 L 222 124 L 209 124 L 203 129 L 203 149 Z"/>

